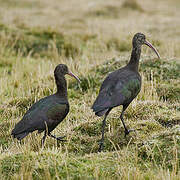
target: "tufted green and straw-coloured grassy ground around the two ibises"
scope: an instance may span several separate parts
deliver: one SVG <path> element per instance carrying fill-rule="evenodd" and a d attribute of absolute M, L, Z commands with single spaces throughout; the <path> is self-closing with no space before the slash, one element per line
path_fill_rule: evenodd
<path fill-rule="evenodd" d="M 178 0 L 0 0 L 0 179 L 180 179 L 180 2 Z M 138 3 L 138 4 L 137 4 Z M 97 153 L 102 118 L 90 107 L 105 76 L 130 58 L 143 32 L 161 60 L 142 49 L 143 86 L 125 113 L 126 139 L 113 109 L 105 150 Z M 54 130 L 56 144 L 33 133 L 10 136 L 25 111 L 56 91 L 53 71 L 66 63 L 68 117 Z"/>

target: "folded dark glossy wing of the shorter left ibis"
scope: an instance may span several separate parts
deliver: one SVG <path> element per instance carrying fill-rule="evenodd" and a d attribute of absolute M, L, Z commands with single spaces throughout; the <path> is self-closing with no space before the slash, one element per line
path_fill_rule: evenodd
<path fill-rule="evenodd" d="M 46 123 L 47 126 L 51 126 L 53 123 L 52 120 L 56 121 L 58 118 L 60 121 L 63 120 L 69 111 L 68 104 L 64 103 L 60 104 L 50 101 L 43 102 L 41 105 L 36 106 L 36 108 L 26 113 L 22 120 L 15 125 L 12 134 L 45 130 Z"/>

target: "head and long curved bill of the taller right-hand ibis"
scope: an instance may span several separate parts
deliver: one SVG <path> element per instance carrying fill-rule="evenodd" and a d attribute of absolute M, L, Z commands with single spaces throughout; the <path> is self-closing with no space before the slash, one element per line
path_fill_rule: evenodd
<path fill-rule="evenodd" d="M 143 44 L 149 46 L 158 56 L 158 58 L 160 58 L 160 55 L 158 53 L 158 51 L 156 50 L 156 48 L 146 40 L 146 36 L 142 33 L 136 33 L 133 37 L 133 47 L 141 47 Z"/>

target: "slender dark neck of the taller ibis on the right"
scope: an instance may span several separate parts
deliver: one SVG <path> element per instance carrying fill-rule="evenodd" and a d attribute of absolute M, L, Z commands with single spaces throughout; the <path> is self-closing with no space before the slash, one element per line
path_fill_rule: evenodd
<path fill-rule="evenodd" d="M 131 58 L 127 66 L 134 71 L 138 71 L 139 68 L 139 59 L 141 56 L 141 47 L 133 47 L 131 52 Z"/>

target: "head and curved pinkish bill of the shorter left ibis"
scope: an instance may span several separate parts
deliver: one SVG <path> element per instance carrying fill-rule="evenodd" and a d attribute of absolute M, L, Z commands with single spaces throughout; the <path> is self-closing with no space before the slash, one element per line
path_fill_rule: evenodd
<path fill-rule="evenodd" d="M 60 77 L 65 76 L 66 74 L 74 77 L 78 82 L 80 82 L 79 78 L 76 75 L 74 75 L 71 71 L 69 71 L 68 67 L 65 64 L 59 64 L 56 66 L 54 70 L 54 76 L 56 79 L 59 79 Z"/>

